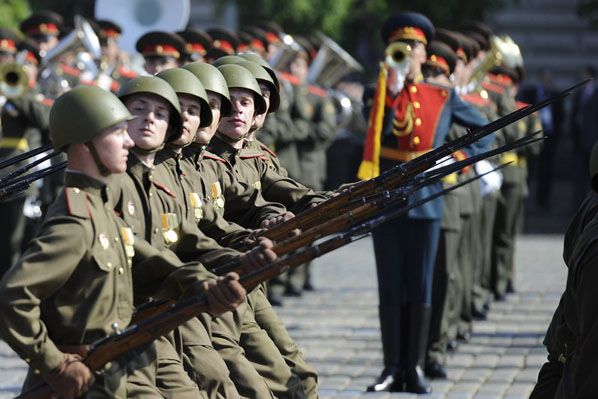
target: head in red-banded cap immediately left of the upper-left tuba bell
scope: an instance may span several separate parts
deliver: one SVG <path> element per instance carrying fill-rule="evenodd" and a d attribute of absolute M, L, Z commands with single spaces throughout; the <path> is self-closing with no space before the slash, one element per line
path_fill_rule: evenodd
<path fill-rule="evenodd" d="M 21 32 L 39 46 L 44 55 L 58 44 L 58 36 L 63 26 L 62 17 L 52 11 L 37 11 L 20 25 Z"/>

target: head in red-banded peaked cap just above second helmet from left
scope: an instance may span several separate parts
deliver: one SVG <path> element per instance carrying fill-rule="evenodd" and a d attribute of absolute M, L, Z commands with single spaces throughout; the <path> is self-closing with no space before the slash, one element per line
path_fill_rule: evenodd
<path fill-rule="evenodd" d="M 150 75 L 169 68 L 177 68 L 185 54 L 185 41 L 175 33 L 153 31 L 141 36 L 135 49 L 145 59 Z"/>

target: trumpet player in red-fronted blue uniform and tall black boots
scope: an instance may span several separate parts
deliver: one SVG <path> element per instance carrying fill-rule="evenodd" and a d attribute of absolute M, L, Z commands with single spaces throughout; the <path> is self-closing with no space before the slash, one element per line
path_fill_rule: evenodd
<path fill-rule="evenodd" d="M 434 26 L 422 14 L 404 12 L 384 23 L 384 41 L 408 45 L 411 62 L 409 68 L 402 71 L 405 74 L 403 85 L 395 84 L 391 68 L 389 84 L 377 89 L 372 115 L 384 112 L 385 119 L 381 131 L 370 125 L 366 140 L 368 143 L 381 142 L 382 147 L 378 153 L 375 145 L 366 143 L 360 178 L 374 177 L 379 171 L 410 161 L 441 145 L 453 122 L 470 128 L 486 122 L 451 88 L 421 81 L 421 65 L 426 61 L 425 46 L 433 36 Z M 384 79 L 381 82 L 384 83 Z M 396 88 L 401 86 L 396 93 Z M 388 93 L 385 104 L 380 93 Z M 376 138 L 378 134 L 381 135 L 379 140 Z M 368 148 L 374 150 L 370 152 Z M 408 202 L 440 189 L 440 183 L 427 186 L 411 195 Z M 368 387 L 369 391 L 431 391 L 422 366 L 430 325 L 432 277 L 441 218 L 442 199 L 439 198 L 374 231 L 384 370 Z"/>

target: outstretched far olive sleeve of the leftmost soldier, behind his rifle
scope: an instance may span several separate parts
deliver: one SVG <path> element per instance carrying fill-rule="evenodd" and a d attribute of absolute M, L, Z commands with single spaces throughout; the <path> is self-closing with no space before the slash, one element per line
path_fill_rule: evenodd
<path fill-rule="evenodd" d="M 203 291 L 202 282 L 214 279 L 199 262 L 183 263 L 174 252 L 158 250 L 135 238 L 133 283 L 138 297 L 179 299 Z"/>

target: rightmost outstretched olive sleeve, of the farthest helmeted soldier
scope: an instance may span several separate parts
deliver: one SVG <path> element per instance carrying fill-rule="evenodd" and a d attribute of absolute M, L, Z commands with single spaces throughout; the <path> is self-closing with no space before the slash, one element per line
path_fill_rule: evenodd
<path fill-rule="evenodd" d="M 283 177 L 267 167 L 262 171 L 261 184 L 262 195 L 265 199 L 281 203 L 296 214 L 330 198 L 328 193 L 315 192 L 290 177 Z"/>

